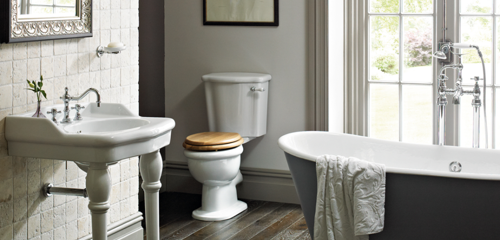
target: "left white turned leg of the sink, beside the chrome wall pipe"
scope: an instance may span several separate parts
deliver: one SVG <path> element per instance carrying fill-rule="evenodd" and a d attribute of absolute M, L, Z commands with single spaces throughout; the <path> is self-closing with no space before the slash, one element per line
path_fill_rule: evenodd
<path fill-rule="evenodd" d="M 88 209 L 92 216 L 92 239 L 107 240 L 107 210 L 111 193 L 111 174 L 106 163 L 90 163 L 86 176 Z"/>

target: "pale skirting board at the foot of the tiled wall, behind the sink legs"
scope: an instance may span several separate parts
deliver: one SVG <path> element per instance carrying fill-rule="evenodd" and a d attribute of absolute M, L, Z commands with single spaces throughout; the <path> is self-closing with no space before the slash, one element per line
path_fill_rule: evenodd
<path fill-rule="evenodd" d="M 108 240 L 142 240 L 144 233 L 140 224 L 142 220 L 142 212 L 136 212 L 128 217 L 125 217 L 117 222 L 107 226 Z M 86 235 L 78 240 L 90 240 L 92 234 Z"/>

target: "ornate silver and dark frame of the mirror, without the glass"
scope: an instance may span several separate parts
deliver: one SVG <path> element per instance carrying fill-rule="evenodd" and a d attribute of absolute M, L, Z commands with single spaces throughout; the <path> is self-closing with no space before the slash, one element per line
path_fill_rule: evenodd
<path fill-rule="evenodd" d="M 19 0 L 0 0 L 0 43 L 92 36 L 92 0 L 77 0 L 76 17 L 19 19 Z"/>

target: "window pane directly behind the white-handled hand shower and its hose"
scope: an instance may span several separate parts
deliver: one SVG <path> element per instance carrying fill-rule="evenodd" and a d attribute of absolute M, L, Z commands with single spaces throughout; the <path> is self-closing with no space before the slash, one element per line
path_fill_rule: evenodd
<path fill-rule="evenodd" d="M 491 22 L 492 18 L 489 16 L 461 16 L 460 17 L 460 42 L 475 44 L 479 46 L 482 52 L 485 68 L 486 68 L 486 83 L 491 84 L 491 47 L 492 47 L 492 37 L 491 37 Z M 453 49 L 453 51 L 458 52 L 459 49 Z M 463 84 L 474 84 L 474 81 L 470 78 L 474 76 L 479 76 L 482 78 L 482 64 L 477 51 L 473 48 L 462 49 L 462 53 L 467 53 L 462 55 L 463 64 Z M 455 56 L 455 62 L 458 57 Z M 482 82 L 482 81 L 481 81 Z M 482 83 L 480 83 L 482 84 Z"/>

